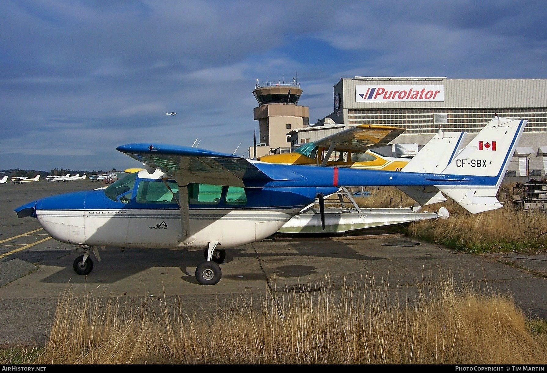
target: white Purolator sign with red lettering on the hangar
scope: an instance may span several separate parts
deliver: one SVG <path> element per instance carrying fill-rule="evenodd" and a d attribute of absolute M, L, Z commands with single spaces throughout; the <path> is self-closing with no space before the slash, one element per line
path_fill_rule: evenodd
<path fill-rule="evenodd" d="M 357 85 L 355 102 L 444 101 L 443 85 Z"/>

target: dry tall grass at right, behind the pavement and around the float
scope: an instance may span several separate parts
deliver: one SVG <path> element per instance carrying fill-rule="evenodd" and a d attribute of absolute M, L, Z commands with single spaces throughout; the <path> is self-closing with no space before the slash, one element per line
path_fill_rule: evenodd
<path fill-rule="evenodd" d="M 501 196 L 498 199 L 505 202 Z M 356 201 L 362 207 L 412 206 L 415 203 L 399 189 L 387 186 L 375 188 L 373 195 Z M 437 211 L 441 206 L 449 210 L 449 219 L 410 223 L 405 226 L 405 234 L 468 252 L 544 252 L 547 249 L 547 214 L 543 212 L 525 213 L 506 203 L 503 208 L 472 214 L 450 199 L 423 209 Z"/>

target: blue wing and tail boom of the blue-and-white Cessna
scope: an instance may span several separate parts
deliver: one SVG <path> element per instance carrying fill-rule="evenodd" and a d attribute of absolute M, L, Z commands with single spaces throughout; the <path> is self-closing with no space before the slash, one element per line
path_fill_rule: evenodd
<path fill-rule="evenodd" d="M 234 154 L 167 144 L 127 144 L 117 148 L 142 162 L 148 172 L 170 174 L 179 186 L 189 183 L 292 188 L 323 186 L 433 185 L 472 180 L 459 175 L 377 171 L 310 165 L 282 165 Z"/>

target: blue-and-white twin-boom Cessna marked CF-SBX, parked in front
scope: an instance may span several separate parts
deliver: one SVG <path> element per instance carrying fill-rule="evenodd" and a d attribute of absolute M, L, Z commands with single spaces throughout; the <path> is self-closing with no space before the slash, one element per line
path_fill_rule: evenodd
<path fill-rule="evenodd" d="M 263 240 L 317 197 L 321 205 L 323 195 L 342 185 L 412 186 L 415 194 L 433 189 L 472 213 L 502 207 L 496 193 L 525 126 L 526 120 L 494 118 L 462 151 L 445 157 L 449 161 L 442 172 L 436 172 L 435 162 L 414 168 L 421 172 L 377 171 L 271 164 L 176 145 L 127 144 L 117 149 L 146 170 L 103 190 L 46 197 L 15 211 L 19 217 L 38 218 L 56 240 L 82 247 L 85 254 L 73 265 L 80 275 L 91 272 L 91 251 L 100 260 L 98 247 L 184 247 L 205 249 L 196 279 L 212 285 L 222 276 L 218 264 L 224 249 Z M 428 168 L 435 173 L 427 173 Z"/>

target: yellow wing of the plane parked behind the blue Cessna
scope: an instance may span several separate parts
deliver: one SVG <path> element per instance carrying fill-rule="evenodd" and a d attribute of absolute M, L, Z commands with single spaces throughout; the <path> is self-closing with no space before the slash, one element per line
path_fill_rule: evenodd
<path fill-rule="evenodd" d="M 387 145 L 404 131 L 405 129 L 400 127 L 362 124 L 324 137 L 315 143 L 325 149 L 334 143 L 336 149 L 364 151 Z"/>

